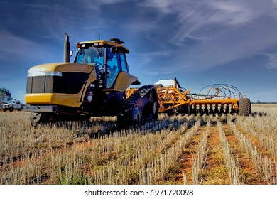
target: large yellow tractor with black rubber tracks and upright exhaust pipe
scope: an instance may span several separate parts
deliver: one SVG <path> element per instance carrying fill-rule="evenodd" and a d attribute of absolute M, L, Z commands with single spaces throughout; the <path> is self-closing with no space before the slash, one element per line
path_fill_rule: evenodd
<path fill-rule="evenodd" d="M 129 74 L 129 49 L 117 38 L 76 44 L 70 63 L 70 42 L 65 33 L 63 63 L 36 65 L 28 70 L 25 100 L 31 124 L 89 120 L 92 116 L 117 116 L 120 126 L 158 118 L 156 87 L 145 85 L 126 99 L 126 89 L 139 85 Z"/>

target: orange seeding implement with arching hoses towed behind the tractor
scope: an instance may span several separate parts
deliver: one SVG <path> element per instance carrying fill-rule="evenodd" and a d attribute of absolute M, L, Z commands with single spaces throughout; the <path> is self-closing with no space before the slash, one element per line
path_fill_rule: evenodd
<path fill-rule="evenodd" d="M 178 81 L 164 86 L 163 80 L 155 84 L 158 93 L 158 112 L 167 114 L 251 114 L 251 102 L 239 90 L 226 84 L 214 84 L 191 93 L 180 87 Z M 126 97 L 136 88 L 126 90 Z"/>

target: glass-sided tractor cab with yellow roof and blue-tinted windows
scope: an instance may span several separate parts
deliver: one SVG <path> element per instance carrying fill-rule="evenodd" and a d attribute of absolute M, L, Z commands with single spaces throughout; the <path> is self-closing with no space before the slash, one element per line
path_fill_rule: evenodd
<path fill-rule="evenodd" d="M 97 71 L 99 87 L 114 89 L 119 72 L 129 72 L 126 62 L 126 48 L 123 41 L 113 38 L 111 41 L 87 41 L 77 43 L 75 63 L 93 65 Z"/>

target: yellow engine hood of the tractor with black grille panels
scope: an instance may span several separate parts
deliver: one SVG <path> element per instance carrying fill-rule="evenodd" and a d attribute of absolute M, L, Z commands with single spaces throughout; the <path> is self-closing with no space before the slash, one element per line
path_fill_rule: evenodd
<path fill-rule="evenodd" d="M 28 70 L 27 104 L 80 107 L 82 93 L 97 79 L 96 66 L 82 63 L 48 63 Z"/>

